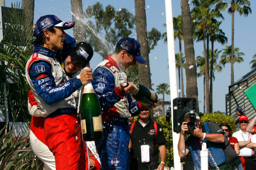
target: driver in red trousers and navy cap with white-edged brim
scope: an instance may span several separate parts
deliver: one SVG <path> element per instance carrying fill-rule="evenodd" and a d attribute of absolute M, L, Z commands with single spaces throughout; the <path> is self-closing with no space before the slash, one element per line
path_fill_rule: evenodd
<path fill-rule="evenodd" d="M 88 169 L 73 93 L 93 80 L 92 72 L 83 70 L 80 78 L 67 80 L 56 58 L 67 36 L 64 30 L 74 24 L 55 15 L 40 17 L 34 31 L 35 49 L 26 63 L 26 79 L 40 116 L 45 117 L 44 139 L 55 156 L 56 170 Z"/>

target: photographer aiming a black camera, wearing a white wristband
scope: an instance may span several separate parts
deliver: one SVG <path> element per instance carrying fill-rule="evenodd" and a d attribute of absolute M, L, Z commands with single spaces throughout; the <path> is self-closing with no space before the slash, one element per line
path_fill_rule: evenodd
<path fill-rule="evenodd" d="M 190 135 L 185 140 L 187 133 Z M 185 157 L 191 152 L 196 170 L 201 170 L 200 150 L 204 142 L 214 159 L 214 161 L 208 159 L 209 169 L 215 169 L 215 164 L 220 170 L 243 169 L 239 166 L 241 162 L 236 156 L 236 151 L 224 136 L 224 131 L 215 122 L 207 121 L 201 125 L 198 113 L 189 111 L 185 114 L 181 125 L 178 153 L 180 157 Z"/>

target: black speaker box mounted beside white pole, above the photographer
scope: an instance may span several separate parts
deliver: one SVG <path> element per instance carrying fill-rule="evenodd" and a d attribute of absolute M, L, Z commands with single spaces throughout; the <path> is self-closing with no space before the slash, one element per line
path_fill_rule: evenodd
<path fill-rule="evenodd" d="M 184 116 L 189 110 L 196 112 L 196 99 L 177 97 L 173 99 L 173 131 L 179 133 L 181 130 L 182 122 L 184 122 Z"/>

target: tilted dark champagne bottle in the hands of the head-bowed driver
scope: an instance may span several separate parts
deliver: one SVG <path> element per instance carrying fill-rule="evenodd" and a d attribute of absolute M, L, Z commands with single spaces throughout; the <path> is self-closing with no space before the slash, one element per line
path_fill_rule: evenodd
<path fill-rule="evenodd" d="M 136 89 L 131 96 L 147 107 L 151 107 L 151 105 L 157 103 L 158 99 L 157 94 L 144 85 L 136 85 Z"/>

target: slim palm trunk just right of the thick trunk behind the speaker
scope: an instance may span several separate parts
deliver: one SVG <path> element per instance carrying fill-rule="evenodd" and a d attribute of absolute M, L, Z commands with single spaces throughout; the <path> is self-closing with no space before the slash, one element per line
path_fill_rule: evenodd
<path fill-rule="evenodd" d="M 210 107 L 209 107 L 209 59 L 207 57 L 207 49 L 206 49 L 206 37 L 205 37 L 205 30 L 203 28 L 203 35 L 204 35 L 204 58 L 205 58 L 205 68 L 204 68 L 204 74 L 205 74 L 205 96 L 206 96 L 206 111 L 207 113 L 210 113 Z"/>

